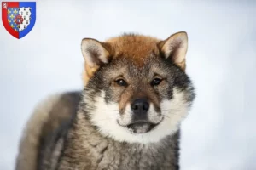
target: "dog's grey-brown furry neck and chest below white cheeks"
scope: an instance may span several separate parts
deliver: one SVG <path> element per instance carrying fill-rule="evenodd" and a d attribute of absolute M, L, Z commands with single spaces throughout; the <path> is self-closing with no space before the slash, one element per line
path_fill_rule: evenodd
<path fill-rule="evenodd" d="M 114 167 L 113 169 L 177 170 L 178 139 L 179 131 L 158 143 L 121 143 L 102 136 L 97 127 L 91 125 L 84 111 L 78 111 L 67 133 L 68 142 L 65 144 L 65 154 L 61 156 L 61 165 L 85 169 Z M 79 165 L 69 160 L 79 160 Z"/>

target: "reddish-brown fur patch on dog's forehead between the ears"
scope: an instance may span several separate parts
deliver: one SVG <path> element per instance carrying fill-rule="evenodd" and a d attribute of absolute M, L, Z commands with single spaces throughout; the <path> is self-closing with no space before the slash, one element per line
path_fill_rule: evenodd
<path fill-rule="evenodd" d="M 143 66 L 153 55 L 158 55 L 159 39 L 142 35 L 123 35 L 108 39 L 113 59 L 125 58 L 135 65 Z"/>

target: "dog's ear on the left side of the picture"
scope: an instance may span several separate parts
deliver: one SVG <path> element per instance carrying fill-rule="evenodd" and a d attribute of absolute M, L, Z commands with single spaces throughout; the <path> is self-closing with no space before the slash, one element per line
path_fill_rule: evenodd
<path fill-rule="evenodd" d="M 109 52 L 102 42 L 92 38 L 84 38 L 81 44 L 84 56 L 84 85 L 90 80 L 95 72 L 105 64 L 108 64 Z"/>

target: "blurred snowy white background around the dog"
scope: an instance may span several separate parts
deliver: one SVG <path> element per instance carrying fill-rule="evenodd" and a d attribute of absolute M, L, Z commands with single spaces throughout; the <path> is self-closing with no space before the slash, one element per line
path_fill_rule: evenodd
<path fill-rule="evenodd" d="M 182 170 L 256 169 L 256 2 L 38 1 L 18 40 L 0 24 L 0 169 L 12 170 L 23 127 L 47 95 L 83 88 L 84 37 L 187 31 L 197 98 L 182 125 Z"/>

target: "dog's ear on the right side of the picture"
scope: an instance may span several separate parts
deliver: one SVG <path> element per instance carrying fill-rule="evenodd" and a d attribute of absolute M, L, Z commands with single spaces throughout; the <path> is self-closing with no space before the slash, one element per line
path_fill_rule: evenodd
<path fill-rule="evenodd" d="M 183 71 L 186 68 L 186 54 L 188 49 L 188 36 L 184 31 L 172 34 L 166 40 L 159 43 L 160 51 L 166 59 L 179 66 Z"/>

